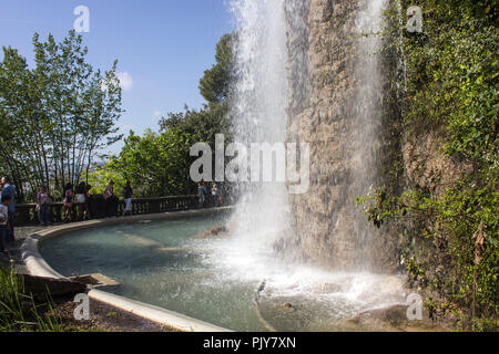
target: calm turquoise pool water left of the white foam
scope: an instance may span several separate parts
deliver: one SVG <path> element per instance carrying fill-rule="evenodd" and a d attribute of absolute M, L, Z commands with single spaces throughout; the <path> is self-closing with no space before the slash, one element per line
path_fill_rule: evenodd
<path fill-rule="evenodd" d="M 121 285 L 106 290 L 115 294 L 221 326 L 264 330 L 252 302 L 254 284 L 221 287 L 204 262 L 208 250 L 200 247 L 207 244 L 196 236 L 223 223 L 215 217 L 103 227 L 47 240 L 40 252 L 65 277 L 102 273 L 116 280 Z"/>

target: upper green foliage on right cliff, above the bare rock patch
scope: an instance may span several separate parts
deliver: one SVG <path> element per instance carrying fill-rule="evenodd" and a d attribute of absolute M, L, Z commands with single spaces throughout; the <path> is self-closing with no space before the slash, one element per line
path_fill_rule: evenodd
<path fill-rule="evenodd" d="M 497 1 L 410 3 L 426 15 L 424 33 L 404 38 L 408 123 L 440 125 L 448 155 L 499 168 Z"/>

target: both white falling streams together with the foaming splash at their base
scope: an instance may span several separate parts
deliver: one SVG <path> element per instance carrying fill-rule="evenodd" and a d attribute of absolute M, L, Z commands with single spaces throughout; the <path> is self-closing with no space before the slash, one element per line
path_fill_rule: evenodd
<path fill-rule="evenodd" d="M 366 3 L 360 0 L 363 4 Z M 385 0 L 367 1 L 358 12 L 357 31 L 376 30 Z M 234 139 L 249 146 L 251 143 L 285 143 L 302 140 L 299 134 L 289 135 L 289 119 L 307 110 L 313 82 L 309 80 L 308 6 L 303 0 L 234 0 L 231 9 L 236 20 L 234 44 L 236 83 L 231 116 L 234 122 Z M 373 37 L 358 41 L 356 60 L 355 121 L 344 142 L 349 155 L 346 164 L 354 179 L 345 187 L 352 200 L 367 192 L 376 179 L 376 152 L 381 100 L 378 61 L 373 55 L 379 42 Z M 343 157 L 343 156 L 342 156 Z M 333 316 L 345 317 L 360 311 L 393 303 L 399 294 L 399 279 L 358 272 L 359 269 L 342 269 L 329 272 L 309 262 L 297 262 L 276 244 L 285 240 L 301 250 L 291 220 L 293 212 L 286 185 L 279 183 L 246 183 L 240 186 L 240 201 L 228 222 L 231 237 L 216 241 L 211 267 L 218 269 L 224 281 L 251 282 L 255 291 L 263 280 L 273 300 L 293 299 L 308 302 L 310 306 L 326 301 Z M 308 198 L 308 195 L 301 196 Z M 338 205 L 340 210 L 343 206 Z M 357 252 L 344 254 L 348 259 L 369 260 L 364 247 L 369 237 L 361 210 L 347 209 L 353 227 L 348 235 Z M 332 216 L 328 216 L 332 217 Z M 305 226 L 313 228 L 314 225 Z M 335 232 L 346 232 L 336 229 Z M 324 235 L 330 237 L 330 235 Z M 282 243 L 281 243 L 282 244 Z M 289 244 L 289 243 L 288 243 Z M 296 254 L 293 254 L 296 256 Z M 365 268 L 360 268 L 360 270 Z M 386 284 L 386 287 L 384 285 Z M 276 300 L 277 299 L 277 300 Z M 332 301 L 328 303 L 327 301 Z M 344 312 L 342 312 L 344 311 Z"/>

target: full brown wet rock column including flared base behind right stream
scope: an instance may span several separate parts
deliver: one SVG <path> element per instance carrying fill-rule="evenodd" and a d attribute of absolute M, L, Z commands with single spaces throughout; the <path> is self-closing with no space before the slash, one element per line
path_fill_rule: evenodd
<path fill-rule="evenodd" d="M 376 122 L 364 123 L 359 114 L 363 92 L 358 72 L 363 63 L 357 17 L 368 2 L 302 2 L 305 9 L 298 13 L 306 17 L 303 20 L 307 31 L 288 31 L 287 136 L 291 142 L 310 145 L 310 188 L 305 195 L 289 196 L 292 226 L 305 253 L 320 266 L 394 270 L 398 267 L 394 246 L 383 235 L 376 235 L 378 231 L 355 204 L 355 197 L 366 195 L 367 185 L 378 181 L 376 152 L 384 144 L 364 142 L 357 133 L 383 128 Z M 299 41 L 299 35 L 308 40 Z M 381 85 L 389 84 L 387 77 Z M 363 149 L 360 156 L 358 152 Z M 363 176 L 366 171 L 371 175 L 369 178 Z"/>

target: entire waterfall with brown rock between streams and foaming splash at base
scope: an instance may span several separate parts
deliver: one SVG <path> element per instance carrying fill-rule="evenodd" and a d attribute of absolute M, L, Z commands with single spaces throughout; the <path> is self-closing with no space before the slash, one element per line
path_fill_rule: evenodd
<path fill-rule="evenodd" d="M 240 183 L 230 236 L 211 243 L 205 261 L 225 287 L 257 291 L 266 280 L 261 301 L 315 309 L 318 322 L 401 300 L 399 278 L 371 272 L 381 247 L 354 200 L 378 178 L 381 46 L 377 37 L 359 34 L 378 29 L 384 4 L 231 2 L 234 140 L 308 143 L 310 188 L 293 195 L 285 183 Z"/>

